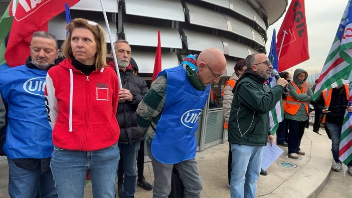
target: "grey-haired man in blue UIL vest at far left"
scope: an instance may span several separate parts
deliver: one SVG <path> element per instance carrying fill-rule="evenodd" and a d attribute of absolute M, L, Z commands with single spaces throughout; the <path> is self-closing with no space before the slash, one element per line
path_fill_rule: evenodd
<path fill-rule="evenodd" d="M 4 151 L 9 164 L 11 197 L 57 197 L 49 167 L 53 152 L 52 129 L 44 102 L 45 77 L 59 55 L 54 35 L 32 35 L 26 64 L 1 72 L 0 93 L 8 104 Z"/>

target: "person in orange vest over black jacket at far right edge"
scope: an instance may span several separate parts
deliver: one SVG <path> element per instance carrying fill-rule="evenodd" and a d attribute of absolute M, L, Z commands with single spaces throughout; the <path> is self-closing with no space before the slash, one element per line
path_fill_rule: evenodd
<path fill-rule="evenodd" d="M 315 102 L 316 111 L 323 114 L 322 123 L 326 123 L 331 135 L 331 151 L 335 161 L 332 170 L 341 171 L 342 164 L 338 159 L 338 149 L 340 145 L 341 128 L 344 112 L 352 111 L 352 106 L 348 107 L 348 85 L 328 89 L 322 92 Z M 347 164 L 347 171 L 352 176 L 352 161 Z"/>

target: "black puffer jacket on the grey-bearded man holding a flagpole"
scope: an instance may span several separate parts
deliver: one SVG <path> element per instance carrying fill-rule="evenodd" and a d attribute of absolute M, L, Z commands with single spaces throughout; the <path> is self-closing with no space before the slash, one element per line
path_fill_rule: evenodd
<path fill-rule="evenodd" d="M 134 67 L 134 66 L 133 66 Z M 148 92 L 145 80 L 137 75 L 132 74 L 132 70 L 126 69 L 125 72 L 120 71 L 122 87 L 128 89 L 134 96 L 132 102 L 125 101 L 118 103 L 116 118 L 120 126 L 119 143 L 132 144 L 133 141 L 143 139 L 138 132 L 135 112 L 139 102 Z M 138 68 L 137 68 L 138 71 Z"/>

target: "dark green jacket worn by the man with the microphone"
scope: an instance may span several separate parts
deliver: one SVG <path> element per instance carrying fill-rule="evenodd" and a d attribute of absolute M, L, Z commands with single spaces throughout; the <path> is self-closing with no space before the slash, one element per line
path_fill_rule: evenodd
<path fill-rule="evenodd" d="M 284 88 L 275 85 L 268 92 L 265 81 L 249 69 L 237 81 L 229 118 L 230 143 L 266 145 L 270 135 L 269 111 L 281 99 Z"/>

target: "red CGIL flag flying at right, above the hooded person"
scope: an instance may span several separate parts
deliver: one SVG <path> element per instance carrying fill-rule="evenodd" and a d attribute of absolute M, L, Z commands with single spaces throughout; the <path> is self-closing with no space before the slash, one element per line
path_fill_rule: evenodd
<path fill-rule="evenodd" d="M 304 0 L 292 0 L 277 33 L 279 71 L 309 59 Z"/>

